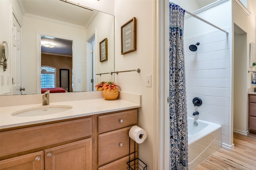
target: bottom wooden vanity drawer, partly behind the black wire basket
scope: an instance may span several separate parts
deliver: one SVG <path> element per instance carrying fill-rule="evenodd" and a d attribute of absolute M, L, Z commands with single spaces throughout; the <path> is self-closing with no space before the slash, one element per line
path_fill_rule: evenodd
<path fill-rule="evenodd" d="M 130 160 L 133 160 L 133 159 L 134 159 L 134 154 L 131 154 Z M 127 162 L 129 162 L 129 156 L 126 156 L 124 158 L 111 162 L 110 164 L 106 164 L 105 166 L 98 168 L 98 170 L 126 170 L 128 167 Z"/>

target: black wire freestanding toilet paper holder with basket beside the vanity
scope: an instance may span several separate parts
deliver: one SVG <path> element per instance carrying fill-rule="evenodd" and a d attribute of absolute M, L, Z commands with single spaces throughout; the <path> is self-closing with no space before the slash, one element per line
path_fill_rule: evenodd
<path fill-rule="evenodd" d="M 143 135 L 143 134 L 141 134 Z M 140 158 L 136 158 L 136 143 L 134 141 L 134 159 L 130 160 L 131 157 L 131 138 L 129 138 L 129 162 L 127 162 L 127 170 L 147 170 L 147 164 L 145 164 Z"/>

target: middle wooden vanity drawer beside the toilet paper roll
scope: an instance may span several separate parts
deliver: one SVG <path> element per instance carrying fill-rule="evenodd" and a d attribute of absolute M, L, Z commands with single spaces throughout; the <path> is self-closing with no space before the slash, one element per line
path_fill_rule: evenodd
<path fill-rule="evenodd" d="M 118 160 L 129 154 L 129 130 L 122 128 L 98 136 L 98 164 L 99 166 Z M 134 152 L 134 140 L 131 139 L 130 150 Z M 136 147 L 137 148 L 137 147 Z"/>

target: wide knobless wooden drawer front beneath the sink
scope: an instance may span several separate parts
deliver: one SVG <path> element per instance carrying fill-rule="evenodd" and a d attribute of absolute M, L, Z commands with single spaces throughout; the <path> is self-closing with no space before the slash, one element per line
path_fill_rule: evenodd
<path fill-rule="evenodd" d="M 0 156 L 92 135 L 92 117 L 0 132 Z"/>

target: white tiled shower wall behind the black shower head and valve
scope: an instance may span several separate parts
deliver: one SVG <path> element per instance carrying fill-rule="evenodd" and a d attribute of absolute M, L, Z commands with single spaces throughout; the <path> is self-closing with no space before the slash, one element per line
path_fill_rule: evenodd
<path fill-rule="evenodd" d="M 230 32 L 229 28 L 224 29 Z M 189 45 L 200 42 L 193 52 Z M 222 142 L 229 145 L 230 131 L 230 36 L 213 31 L 184 40 L 188 116 L 222 125 Z M 194 97 L 202 99 L 194 107 Z"/>

